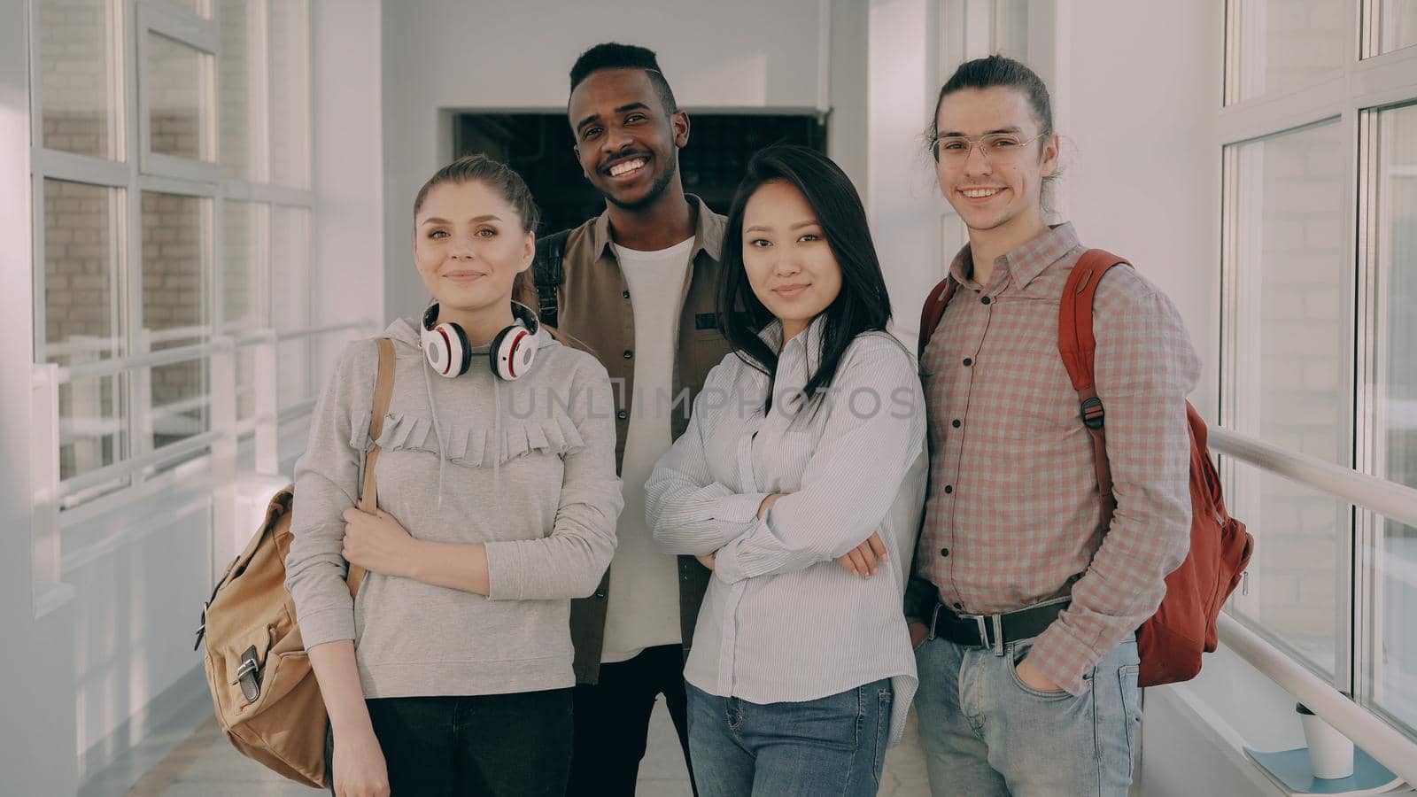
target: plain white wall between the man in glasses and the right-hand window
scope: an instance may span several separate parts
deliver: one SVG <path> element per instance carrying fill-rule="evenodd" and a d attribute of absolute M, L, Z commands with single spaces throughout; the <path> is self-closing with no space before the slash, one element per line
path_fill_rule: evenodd
<path fill-rule="evenodd" d="M 1060 210 L 1085 244 L 1129 258 L 1176 302 L 1204 363 L 1192 403 L 1214 420 L 1224 4 L 1050 6 Z"/>

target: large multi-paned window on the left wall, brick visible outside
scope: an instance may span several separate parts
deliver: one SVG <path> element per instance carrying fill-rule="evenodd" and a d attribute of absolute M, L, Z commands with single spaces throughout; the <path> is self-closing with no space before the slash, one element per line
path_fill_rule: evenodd
<path fill-rule="evenodd" d="M 252 340 L 309 326 L 310 10 L 30 1 L 34 359 L 58 366 L 64 512 L 254 434 Z M 285 398 L 307 400 L 289 360 Z"/>

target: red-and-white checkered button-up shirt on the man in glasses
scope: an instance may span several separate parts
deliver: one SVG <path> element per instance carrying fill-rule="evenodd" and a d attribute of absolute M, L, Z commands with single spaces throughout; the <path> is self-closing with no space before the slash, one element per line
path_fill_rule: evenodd
<path fill-rule="evenodd" d="M 1102 523 L 1091 440 L 1058 355 L 1058 302 L 1087 248 L 1061 224 L 959 289 L 921 360 L 931 476 L 915 574 L 961 614 L 1071 593 L 1029 661 L 1080 695 L 1087 675 L 1156 611 L 1190 540 L 1185 397 L 1200 364 L 1180 313 L 1132 268 L 1094 302 L 1097 393 L 1117 511 Z"/>

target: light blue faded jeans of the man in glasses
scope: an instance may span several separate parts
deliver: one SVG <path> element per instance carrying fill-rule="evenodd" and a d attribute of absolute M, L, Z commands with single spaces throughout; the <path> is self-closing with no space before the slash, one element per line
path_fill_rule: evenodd
<path fill-rule="evenodd" d="M 1003 655 L 927 638 L 915 648 L 920 745 L 930 791 L 990 797 L 1125 797 L 1139 742 L 1136 641 L 1111 651 L 1080 696 L 1019 679 L 1032 640 Z"/>

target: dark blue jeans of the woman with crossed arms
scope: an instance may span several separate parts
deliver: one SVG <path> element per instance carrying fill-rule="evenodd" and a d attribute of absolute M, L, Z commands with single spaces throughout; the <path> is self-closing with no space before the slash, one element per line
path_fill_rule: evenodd
<path fill-rule="evenodd" d="M 700 797 L 871 796 L 890 743 L 890 678 L 801 703 L 689 691 Z"/>

